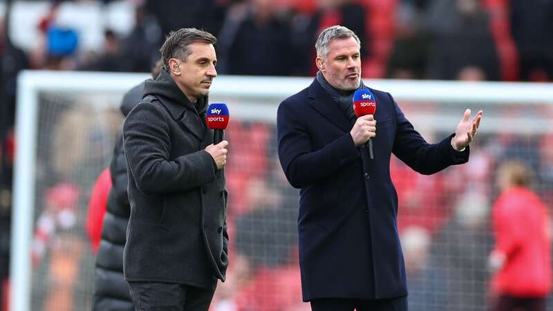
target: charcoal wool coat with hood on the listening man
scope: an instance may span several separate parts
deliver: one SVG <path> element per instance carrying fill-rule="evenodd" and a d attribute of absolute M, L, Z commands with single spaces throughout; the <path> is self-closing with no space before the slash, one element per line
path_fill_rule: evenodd
<path fill-rule="evenodd" d="M 225 175 L 216 176 L 204 150 L 213 142 L 205 123 L 207 98 L 196 106 L 162 70 L 145 82 L 142 102 L 124 122 L 131 202 L 127 281 L 212 288 L 216 279 L 225 280 Z"/>

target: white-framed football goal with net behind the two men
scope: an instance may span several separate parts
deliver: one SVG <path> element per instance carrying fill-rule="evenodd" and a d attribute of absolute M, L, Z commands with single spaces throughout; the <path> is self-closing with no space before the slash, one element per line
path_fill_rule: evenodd
<path fill-rule="evenodd" d="M 94 262 L 86 235 L 91 188 L 113 153 L 122 95 L 142 74 L 25 71 L 19 77 L 10 310 L 90 310 Z M 281 100 L 310 78 L 217 77 L 210 102 L 231 113 L 226 132 L 231 239 L 228 281 L 215 311 L 310 310 L 301 303 L 299 191 L 277 159 Z M 366 80 L 390 92 L 429 142 L 462 113 L 484 111 L 468 164 L 421 176 L 393 158 L 398 229 L 410 310 L 485 311 L 493 301 L 487 256 L 498 164 L 522 160 L 553 206 L 553 86 Z M 552 308 L 552 307 L 550 307 Z M 553 310 L 553 309 L 551 309 Z"/>

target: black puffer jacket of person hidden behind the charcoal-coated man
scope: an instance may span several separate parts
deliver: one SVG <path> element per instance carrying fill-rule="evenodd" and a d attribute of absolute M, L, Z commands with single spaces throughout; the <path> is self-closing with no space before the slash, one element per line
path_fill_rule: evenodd
<path fill-rule="evenodd" d="M 143 88 L 144 83 L 141 83 L 124 95 L 121 104 L 123 115 L 128 115 L 142 100 Z M 123 247 L 131 205 L 126 194 L 128 177 L 122 131 L 117 134 L 109 171 L 113 187 L 109 191 L 102 241 L 96 257 L 93 310 L 135 310 L 129 296 L 129 285 L 123 276 Z"/>

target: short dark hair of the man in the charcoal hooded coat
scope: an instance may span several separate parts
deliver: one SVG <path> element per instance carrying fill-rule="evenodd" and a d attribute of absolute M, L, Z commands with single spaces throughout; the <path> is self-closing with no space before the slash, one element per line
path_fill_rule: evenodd
<path fill-rule="evenodd" d="M 215 45 L 217 39 L 209 32 L 196 28 L 180 28 L 179 30 L 169 32 L 167 39 L 165 39 L 160 48 L 163 65 L 169 66 L 169 59 L 171 58 L 186 62 L 189 55 L 192 54 L 189 45 L 196 42 Z"/>

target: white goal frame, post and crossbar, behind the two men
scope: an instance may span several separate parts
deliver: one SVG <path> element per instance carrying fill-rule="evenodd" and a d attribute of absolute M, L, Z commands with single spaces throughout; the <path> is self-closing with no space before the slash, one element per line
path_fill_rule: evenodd
<path fill-rule="evenodd" d="M 24 70 L 18 79 L 16 158 L 12 204 L 10 249 L 10 310 L 30 310 L 31 258 L 33 232 L 35 160 L 39 93 L 41 91 L 93 91 L 124 93 L 147 79 L 147 74 L 81 73 Z M 278 102 L 301 91 L 312 82 L 308 77 L 221 76 L 215 79 L 211 97 L 262 98 L 271 104 L 229 104 L 232 117 L 238 120 L 276 122 Z M 390 92 L 397 102 L 435 101 L 440 104 L 543 104 L 553 103 L 553 84 L 514 82 L 438 82 L 407 80 L 366 80 L 366 85 Z M 117 107 L 115 107 L 117 108 Z M 461 108 L 461 107 L 460 107 Z M 464 111 L 460 110 L 459 117 Z M 440 122 L 453 130 L 458 119 Z M 482 131 L 512 131 L 505 120 L 485 120 Z M 553 131 L 551 122 L 527 122 L 523 128 L 533 133 Z M 442 124 L 437 124 L 438 127 Z"/>

